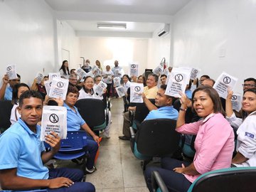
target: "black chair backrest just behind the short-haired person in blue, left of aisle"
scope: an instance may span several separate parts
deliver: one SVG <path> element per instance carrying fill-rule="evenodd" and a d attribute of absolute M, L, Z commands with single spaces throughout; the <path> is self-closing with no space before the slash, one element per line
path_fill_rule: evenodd
<path fill-rule="evenodd" d="M 105 105 L 102 100 L 82 99 L 75 104 L 82 119 L 90 128 L 100 126 L 105 122 Z"/>

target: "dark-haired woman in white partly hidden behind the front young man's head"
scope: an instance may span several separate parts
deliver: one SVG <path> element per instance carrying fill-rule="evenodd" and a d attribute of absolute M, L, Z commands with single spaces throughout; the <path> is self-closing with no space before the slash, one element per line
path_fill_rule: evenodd
<path fill-rule="evenodd" d="M 21 117 L 21 114 L 18 113 L 18 100 L 21 97 L 21 94 L 25 92 L 26 90 L 30 90 L 28 85 L 25 83 L 19 83 L 14 86 L 13 90 L 13 96 L 11 103 L 14 105 L 11 109 L 11 117 L 10 117 L 10 122 L 11 124 L 14 124 L 18 121 L 18 118 Z"/>

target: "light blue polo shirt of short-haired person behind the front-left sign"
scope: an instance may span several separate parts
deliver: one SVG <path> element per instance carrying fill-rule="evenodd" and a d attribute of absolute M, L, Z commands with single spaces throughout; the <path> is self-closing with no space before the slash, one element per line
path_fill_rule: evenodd
<path fill-rule="evenodd" d="M 67 108 L 67 127 L 68 132 L 70 131 L 78 131 L 81 129 L 82 124 L 85 124 L 85 120 L 82 119 L 80 113 L 78 112 L 78 108 L 75 107 L 75 112 L 71 110 L 68 105 L 64 102 L 64 107 Z"/>

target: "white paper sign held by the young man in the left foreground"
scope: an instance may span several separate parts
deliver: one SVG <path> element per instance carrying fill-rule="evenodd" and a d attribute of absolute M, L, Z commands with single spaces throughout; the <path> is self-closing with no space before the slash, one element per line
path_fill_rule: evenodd
<path fill-rule="evenodd" d="M 55 132 L 60 139 L 67 138 L 67 108 L 60 106 L 43 106 L 41 141 L 45 141 L 45 136 Z"/>

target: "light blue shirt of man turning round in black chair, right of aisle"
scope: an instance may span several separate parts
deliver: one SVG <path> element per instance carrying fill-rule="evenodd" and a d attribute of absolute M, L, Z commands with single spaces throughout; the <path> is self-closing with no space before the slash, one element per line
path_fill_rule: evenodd
<path fill-rule="evenodd" d="M 151 110 L 144 120 L 149 119 L 178 119 L 178 111 L 174 106 L 160 107 L 157 110 Z"/>

